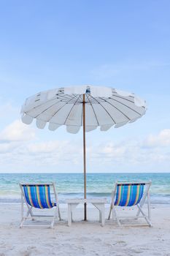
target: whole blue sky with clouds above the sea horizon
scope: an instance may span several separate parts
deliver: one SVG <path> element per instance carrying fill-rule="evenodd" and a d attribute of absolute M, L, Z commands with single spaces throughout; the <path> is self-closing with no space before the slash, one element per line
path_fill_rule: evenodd
<path fill-rule="evenodd" d="M 133 124 L 88 132 L 88 173 L 170 172 L 170 1 L 0 0 L 0 172 L 82 173 L 82 130 L 20 121 L 25 99 L 109 86 L 147 101 Z"/>

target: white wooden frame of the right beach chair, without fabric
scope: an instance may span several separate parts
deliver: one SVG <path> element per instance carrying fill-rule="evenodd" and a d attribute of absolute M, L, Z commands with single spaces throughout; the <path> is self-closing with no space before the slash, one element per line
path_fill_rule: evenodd
<path fill-rule="evenodd" d="M 127 218 L 127 217 L 117 217 L 117 212 L 116 212 L 116 207 L 115 206 L 115 195 L 117 192 L 117 185 L 124 185 L 124 184 L 144 184 L 144 186 L 146 186 L 146 188 L 144 189 L 144 195 L 142 196 L 142 199 L 140 200 L 140 202 L 138 204 L 136 204 L 136 206 L 119 206 L 119 207 L 136 207 L 138 208 L 138 211 L 136 213 L 136 217 L 134 219 L 138 219 L 138 218 L 144 218 L 147 222 L 147 225 L 149 225 L 150 227 L 152 227 L 152 223 L 151 223 L 151 215 L 150 215 L 150 186 L 152 184 L 151 181 L 140 181 L 140 182 L 119 182 L 116 181 L 115 183 L 115 189 L 112 190 L 112 197 L 111 197 L 111 203 L 110 203 L 110 208 L 109 208 L 109 217 L 108 219 L 110 219 L 110 215 L 112 213 L 112 219 L 116 220 L 117 224 L 119 226 L 136 226 L 136 225 L 125 225 L 125 224 L 121 224 L 120 219 L 131 219 L 131 218 Z M 144 213 L 142 207 L 144 206 L 144 202 L 147 198 L 147 214 Z M 139 216 L 141 214 L 141 216 Z M 139 225 L 137 225 L 139 226 Z"/>

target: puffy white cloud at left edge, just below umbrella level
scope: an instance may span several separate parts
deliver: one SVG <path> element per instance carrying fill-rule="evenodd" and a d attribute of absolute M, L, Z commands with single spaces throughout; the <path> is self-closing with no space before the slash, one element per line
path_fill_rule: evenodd
<path fill-rule="evenodd" d="M 20 120 L 13 121 L 0 132 L 0 142 L 28 141 L 34 138 L 34 129 L 23 124 Z"/>

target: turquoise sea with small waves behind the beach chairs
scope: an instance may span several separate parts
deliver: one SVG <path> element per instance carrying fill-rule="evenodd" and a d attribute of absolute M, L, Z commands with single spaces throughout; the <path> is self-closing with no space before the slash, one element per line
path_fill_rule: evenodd
<path fill-rule="evenodd" d="M 170 204 L 170 173 L 88 173 L 87 197 L 107 197 L 115 181 L 152 181 L 151 203 Z M 19 182 L 55 181 L 61 202 L 83 197 L 82 173 L 0 173 L 0 203 L 19 203 Z"/>

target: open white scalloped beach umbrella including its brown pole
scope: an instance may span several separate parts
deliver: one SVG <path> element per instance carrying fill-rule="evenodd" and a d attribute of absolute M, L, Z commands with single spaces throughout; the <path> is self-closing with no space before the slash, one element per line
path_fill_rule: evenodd
<path fill-rule="evenodd" d="M 84 197 L 86 198 L 85 132 L 97 127 L 107 131 L 122 127 L 142 117 L 146 102 L 133 93 L 101 86 L 74 86 L 42 91 L 26 99 L 22 121 L 52 131 L 66 125 L 67 132 L 77 133 L 83 127 Z M 85 205 L 86 220 L 86 205 Z"/>

